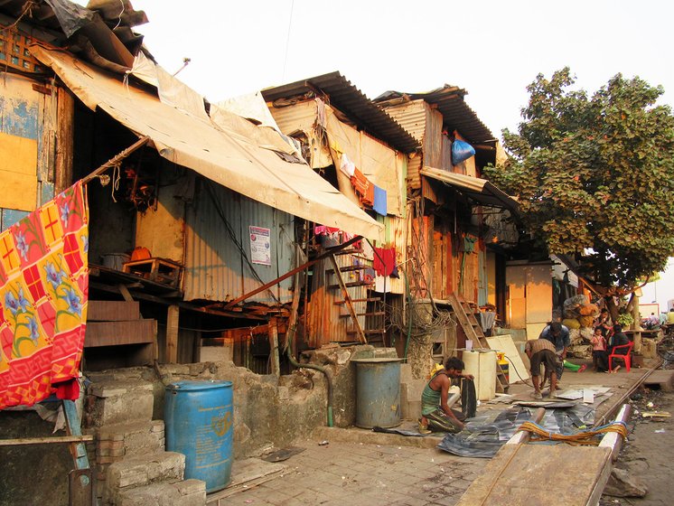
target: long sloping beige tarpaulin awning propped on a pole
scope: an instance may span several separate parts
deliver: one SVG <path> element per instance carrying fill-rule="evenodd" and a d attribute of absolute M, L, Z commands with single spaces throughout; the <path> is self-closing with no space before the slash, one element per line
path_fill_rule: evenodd
<path fill-rule="evenodd" d="M 162 103 L 68 52 L 33 46 L 75 95 L 138 136 L 149 136 L 160 155 L 235 192 L 276 209 L 370 239 L 383 226 L 305 164 L 292 164 L 250 138 Z"/>

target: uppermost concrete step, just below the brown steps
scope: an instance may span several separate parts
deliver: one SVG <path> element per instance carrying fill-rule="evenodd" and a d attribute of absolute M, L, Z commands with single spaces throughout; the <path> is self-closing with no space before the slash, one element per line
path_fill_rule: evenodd
<path fill-rule="evenodd" d="M 152 421 L 153 389 L 144 379 L 95 380 L 87 391 L 85 426 Z"/>

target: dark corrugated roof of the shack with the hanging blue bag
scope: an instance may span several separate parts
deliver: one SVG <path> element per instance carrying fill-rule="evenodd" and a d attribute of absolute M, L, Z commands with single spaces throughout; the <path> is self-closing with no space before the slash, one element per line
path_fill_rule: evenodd
<path fill-rule="evenodd" d="M 442 88 L 426 93 L 404 93 L 401 91 L 386 91 L 374 99 L 382 104 L 400 104 L 410 100 L 425 100 L 435 105 L 443 115 L 445 126 L 449 130 L 458 131 L 471 144 L 491 144 L 496 138 L 490 129 L 482 123 L 472 108 L 468 107 L 463 97 L 467 95 L 465 89 L 445 84 Z"/>

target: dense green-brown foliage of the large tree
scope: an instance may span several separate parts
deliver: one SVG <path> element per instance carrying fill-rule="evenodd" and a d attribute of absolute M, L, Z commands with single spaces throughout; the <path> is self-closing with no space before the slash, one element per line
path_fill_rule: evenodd
<path fill-rule="evenodd" d="M 674 251 L 674 117 L 664 90 L 621 74 L 589 97 L 568 68 L 528 87 L 509 160 L 486 175 L 520 198 L 554 254 L 582 255 L 596 286 L 630 289 Z"/>

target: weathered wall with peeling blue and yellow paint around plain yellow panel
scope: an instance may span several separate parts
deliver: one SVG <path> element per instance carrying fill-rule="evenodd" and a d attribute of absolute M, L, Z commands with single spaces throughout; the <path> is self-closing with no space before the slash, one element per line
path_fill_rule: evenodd
<path fill-rule="evenodd" d="M 35 141 L 37 166 L 34 173 L 22 174 L 27 178 L 34 178 L 33 181 L 36 180 L 35 199 L 31 198 L 27 206 L 22 206 L 24 209 L 3 208 L 0 205 L 0 230 L 11 227 L 30 211 L 54 198 L 58 94 L 56 89 L 52 89 L 50 95 L 43 94 L 34 90 L 33 84 L 37 84 L 37 81 L 11 73 L 5 73 L 3 77 L 3 92 L 0 95 L 0 133 L 12 136 L 11 138 L 20 137 Z M 0 183 L 6 184 L 7 181 Z"/>

